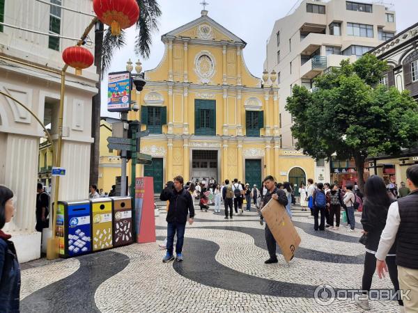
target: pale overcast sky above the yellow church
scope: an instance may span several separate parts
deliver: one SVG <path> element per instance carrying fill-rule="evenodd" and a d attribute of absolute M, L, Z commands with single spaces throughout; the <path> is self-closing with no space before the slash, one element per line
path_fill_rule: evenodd
<path fill-rule="evenodd" d="M 160 30 L 153 33 L 153 44 L 150 48 L 150 58 L 144 60 L 144 70 L 151 70 L 160 63 L 164 55 L 164 44 L 161 42 L 161 35 L 168 33 L 192 20 L 201 16 L 202 0 L 158 0 L 162 15 L 160 17 Z M 238 35 L 247 42 L 244 51 L 244 59 L 251 74 L 261 77 L 263 62 L 265 58 L 265 42 L 272 31 L 274 22 L 284 17 L 299 3 L 299 0 L 207 0 L 209 5 L 206 10 L 208 16 L 224 26 L 226 29 Z M 360 1 L 359 1 L 360 2 Z M 361 2 L 382 2 L 382 1 L 361 1 Z M 396 29 L 402 31 L 408 26 L 418 22 L 418 1 L 417 0 L 388 0 L 385 3 L 393 3 L 396 11 Z M 135 30 L 132 27 L 127 30 L 127 46 L 117 51 L 110 72 L 125 70 L 128 58 L 136 62 L 138 56 L 134 54 Z M 107 111 L 107 79 L 102 82 L 102 116 L 118 117 L 117 113 Z"/>

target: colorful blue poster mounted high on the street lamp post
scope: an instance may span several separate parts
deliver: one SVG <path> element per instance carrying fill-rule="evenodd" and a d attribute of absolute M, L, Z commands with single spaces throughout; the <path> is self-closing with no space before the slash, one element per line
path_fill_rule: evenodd
<path fill-rule="evenodd" d="M 130 109 L 130 72 L 109 73 L 107 111 L 123 112 Z"/>

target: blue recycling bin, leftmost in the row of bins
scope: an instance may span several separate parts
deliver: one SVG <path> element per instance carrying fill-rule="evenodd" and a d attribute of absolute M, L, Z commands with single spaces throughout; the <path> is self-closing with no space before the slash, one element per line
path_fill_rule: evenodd
<path fill-rule="evenodd" d="M 59 238 L 61 257 L 75 257 L 91 252 L 90 202 L 59 201 L 55 235 Z"/>

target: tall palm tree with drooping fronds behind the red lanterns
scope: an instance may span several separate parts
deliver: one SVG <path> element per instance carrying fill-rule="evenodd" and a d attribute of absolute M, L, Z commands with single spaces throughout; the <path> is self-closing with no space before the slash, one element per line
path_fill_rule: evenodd
<path fill-rule="evenodd" d="M 150 45 L 152 43 L 151 33 L 158 31 L 158 17 L 161 16 L 160 6 L 156 0 L 136 0 L 140 14 L 135 28 L 135 54 L 143 58 L 150 56 Z M 110 29 L 104 31 L 103 24 L 100 22 L 95 31 L 95 66 L 98 69 L 100 81 L 103 74 L 109 70 L 111 60 L 116 49 L 121 49 L 126 45 L 125 31 L 121 35 L 111 35 Z M 93 96 L 92 115 L 91 115 L 91 136 L 95 138 L 91 144 L 90 157 L 90 184 L 97 184 L 99 177 L 99 157 L 100 157 L 100 81 L 97 84 L 98 95 Z"/>

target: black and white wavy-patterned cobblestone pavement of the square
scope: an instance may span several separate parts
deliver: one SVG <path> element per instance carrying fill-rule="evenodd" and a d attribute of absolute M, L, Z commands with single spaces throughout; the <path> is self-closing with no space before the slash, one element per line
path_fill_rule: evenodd
<path fill-rule="evenodd" d="M 195 223 L 186 227 L 183 262 L 162 262 L 165 250 L 158 243 L 167 235 L 167 223 L 161 209 L 156 243 L 22 264 L 21 311 L 362 312 L 353 300 L 324 306 L 314 298 L 323 284 L 360 288 L 364 246 L 358 243 L 359 230 L 346 232 L 341 225 L 339 231 L 316 232 L 309 213 L 295 207 L 300 248 L 289 264 L 279 249 L 279 263 L 264 264 L 264 227 L 251 210 L 225 220 L 224 210 L 196 209 Z M 392 282 L 375 276 L 372 287 L 391 289 Z M 398 312 L 394 300 L 373 300 L 371 309 Z"/>

